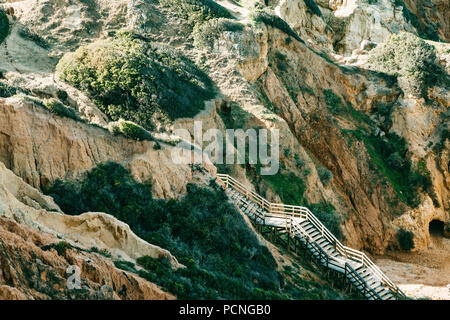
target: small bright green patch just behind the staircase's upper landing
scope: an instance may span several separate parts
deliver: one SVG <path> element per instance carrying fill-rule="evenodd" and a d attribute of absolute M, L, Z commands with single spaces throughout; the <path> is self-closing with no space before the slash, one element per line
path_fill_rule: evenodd
<path fill-rule="evenodd" d="M 280 196 L 284 204 L 304 204 L 303 194 L 306 185 L 303 180 L 293 173 L 262 176 L 264 181 Z"/>

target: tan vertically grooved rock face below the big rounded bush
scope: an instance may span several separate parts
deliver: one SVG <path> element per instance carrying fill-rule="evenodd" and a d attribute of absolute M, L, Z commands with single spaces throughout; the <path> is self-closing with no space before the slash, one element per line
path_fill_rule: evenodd
<path fill-rule="evenodd" d="M 34 187 L 75 178 L 105 161 L 122 163 L 139 181 L 150 182 L 156 197 L 176 198 L 192 179 L 188 165 L 171 161 L 168 145 L 155 150 L 154 142 L 113 136 L 21 97 L 0 98 L 0 108 L 0 161 Z"/>

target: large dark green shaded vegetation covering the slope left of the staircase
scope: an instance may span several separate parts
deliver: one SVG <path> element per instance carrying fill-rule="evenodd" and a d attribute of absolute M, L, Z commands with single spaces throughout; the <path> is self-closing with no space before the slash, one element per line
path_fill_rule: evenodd
<path fill-rule="evenodd" d="M 287 281 L 275 260 L 225 192 L 187 186 L 180 200 L 153 199 L 116 163 L 101 164 L 78 181 L 57 180 L 46 190 L 68 214 L 107 212 L 129 224 L 144 240 L 168 249 L 187 268 L 173 271 L 165 259 L 138 259 L 140 275 L 180 299 L 320 298 L 323 289 Z M 134 270 L 130 263 L 116 265 Z"/>

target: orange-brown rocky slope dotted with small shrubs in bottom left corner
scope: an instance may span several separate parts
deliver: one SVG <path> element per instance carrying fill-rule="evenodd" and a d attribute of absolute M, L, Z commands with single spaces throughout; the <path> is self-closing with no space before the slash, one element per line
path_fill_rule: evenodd
<path fill-rule="evenodd" d="M 48 249 L 59 241 L 0 218 L 0 299 L 174 299 L 156 285 L 117 269 L 99 254 L 70 248 L 60 255 Z M 76 268 L 81 282 L 80 288 L 73 289 L 70 276 Z"/>

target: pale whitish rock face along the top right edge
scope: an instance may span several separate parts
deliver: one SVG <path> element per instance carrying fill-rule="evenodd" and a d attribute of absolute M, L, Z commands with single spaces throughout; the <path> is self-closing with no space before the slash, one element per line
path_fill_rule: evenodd
<path fill-rule="evenodd" d="M 449 41 L 447 1 L 316 1 L 320 15 L 307 2 L 311 1 L 282 0 L 275 12 L 303 39 L 312 39 L 328 52 L 349 56 L 364 41 L 382 43 L 400 31 Z"/>

